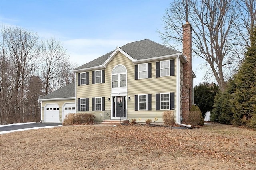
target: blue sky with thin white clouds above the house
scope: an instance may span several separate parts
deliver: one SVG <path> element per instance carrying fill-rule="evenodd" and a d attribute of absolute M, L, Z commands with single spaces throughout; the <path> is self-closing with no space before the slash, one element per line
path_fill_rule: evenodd
<path fill-rule="evenodd" d="M 60 40 L 78 66 L 142 39 L 162 44 L 162 16 L 172 0 L 0 0 L 1 25 Z M 196 60 L 196 61 L 195 61 Z M 193 59 L 195 83 L 201 63 Z"/>

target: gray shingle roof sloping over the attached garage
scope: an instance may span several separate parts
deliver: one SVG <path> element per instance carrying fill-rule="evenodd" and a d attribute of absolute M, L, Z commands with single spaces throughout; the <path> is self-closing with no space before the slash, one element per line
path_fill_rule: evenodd
<path fill-rule="evenodd" d="M 67 84 L 66 86 L 59 88 L 58 90 L 43 96 L 41 99 L 57 99 L 57 98 L 72 98 L 75 97 L 75 82 Z"/>

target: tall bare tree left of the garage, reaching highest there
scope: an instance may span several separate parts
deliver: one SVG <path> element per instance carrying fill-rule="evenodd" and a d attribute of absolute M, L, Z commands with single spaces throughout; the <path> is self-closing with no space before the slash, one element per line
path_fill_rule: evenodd
<path fill-rule="evenodd" d="M 3 32 L 8 47 L 12 68 L 15 75 L 15 108 L 16 115 L 23 119 L 24 84 L 27 76 L 36 69 L 40 49 L 38 35 L 22 28 L 6 27 Z"/>

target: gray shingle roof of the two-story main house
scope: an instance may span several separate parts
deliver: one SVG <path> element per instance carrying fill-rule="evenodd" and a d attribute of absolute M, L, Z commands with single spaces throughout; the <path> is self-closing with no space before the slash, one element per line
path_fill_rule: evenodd
<path fill-rule="evenodd" d="M 122 49 L 132 58 L 137 60 L 149 59 L 152 57 L 160 57 L 160 56 L 180 53 L 180 51 L 176 51 L 174 49 L 171 49 L 169 47 L 166 47 L 164 45 L 151 41 L 150 39 L 144 39 L 144 40 L 128 43 L 120 47 L 120 49 Z M 90 68 L 90 67 L 102 65 L 108 59 L 108 57 L 110 57 L 110 55 L 113 52 L 114 51 L 111 51 L 110 53 L 107 53 L 93 61 L 90 61 L 89 63 L 79 66 L 74 70 L 80 70 L 84 68 Z"/>

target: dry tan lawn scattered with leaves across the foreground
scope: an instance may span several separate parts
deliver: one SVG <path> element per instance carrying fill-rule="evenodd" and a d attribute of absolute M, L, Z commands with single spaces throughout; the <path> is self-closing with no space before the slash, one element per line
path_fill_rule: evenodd
<path fill-rule="evenodd" d="M 256 169 L 256 131 L 87 125 L 7 133 L 0 169 Z"/>

